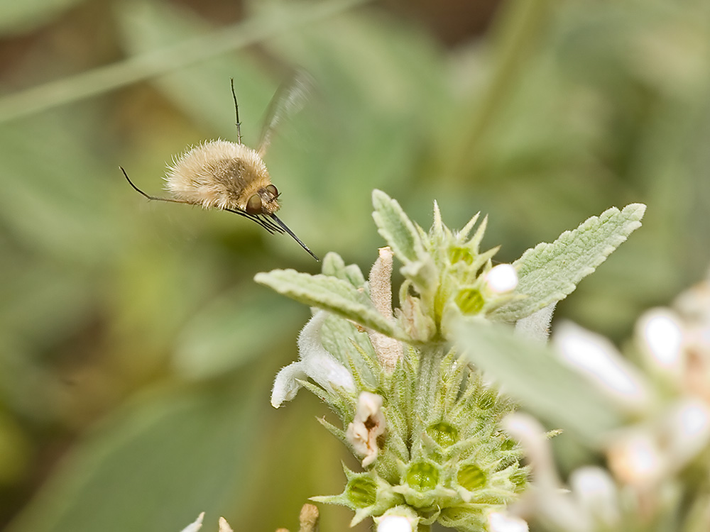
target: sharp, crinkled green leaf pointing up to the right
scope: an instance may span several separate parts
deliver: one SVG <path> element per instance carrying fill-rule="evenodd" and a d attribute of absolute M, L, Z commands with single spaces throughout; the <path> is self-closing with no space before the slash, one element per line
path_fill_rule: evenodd
<path fill-rule="evenodd" d="M 564 299 L 577 283 L 594 272 L 606 257 L 641 226 L 646 209 L 630 204 L 622 211 L 613 207 L 592 216 L 574 231 L 565 231 L 552 244 L 529 249 L 513 265 L 518 269 L 518 289 L 525 294 L 491 313 L 496 321 L 517 321 Z"/>

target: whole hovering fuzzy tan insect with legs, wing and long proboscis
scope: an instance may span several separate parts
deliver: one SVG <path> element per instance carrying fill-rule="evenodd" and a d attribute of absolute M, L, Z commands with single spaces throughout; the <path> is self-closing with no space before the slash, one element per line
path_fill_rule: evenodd
<path fill-rule="evenodd" d="M 295 112 L 303 104 L 309 79 L 299 73 L 274 94 L 266 111 L 258 149 L 253 150 L 241 143 L 239 105 L 236 103 L 234 79 L 231 79 L 231 95 L 236 113 L 236 143 L 226 140 L 209 140 L 183 153 L 165 174 L 165 189 L 171 197 L 150 196 L 136 187 L 123 167 L 131 187 L 148 199 L 202 205 L 204 209 L 229 211 L 258 223 L 269 233 L 288 233 L 310 255 L 313 252 L 302 243 L 275 214 L 280 208 L 278 189 L 271 183 L 262 157 L 271 143 L 275 126 L 285 116 Z"/>

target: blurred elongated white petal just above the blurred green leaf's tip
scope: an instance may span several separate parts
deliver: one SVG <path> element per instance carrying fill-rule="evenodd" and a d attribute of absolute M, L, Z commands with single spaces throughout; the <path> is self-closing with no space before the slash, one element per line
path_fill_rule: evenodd
<path fill-rule="evenodd" d="M 639 372 L 603 336 L 567 321 L 555 328 L 553 342 L 562 360 L 624 409 L 639 411 L 650 404 L 650 392 Z"/>

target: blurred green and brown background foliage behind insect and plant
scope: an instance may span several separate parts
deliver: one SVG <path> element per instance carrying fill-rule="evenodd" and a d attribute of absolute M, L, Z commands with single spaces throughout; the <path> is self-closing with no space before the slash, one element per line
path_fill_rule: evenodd
<path fill-rule="evenodd" d="M 643 228 L 558 306 L 617 340 L 710 262 L 710 4 L 0 4 L 0 527 L 294 528 L 342 489 L 310 394 L 275 411 L 308 309 L 252 282 L 318 265 L 223 212 L 148 203 L 207 138 L 253 145 L 280 82 L 317 88 L 266 157 L 281 218 L 363 270 L 377 187 L 514 260 L 608 206 Z M 351 514 L 323 511 L 325 531 Z M 359 530 L 365 530 L 361 526 Z"/>

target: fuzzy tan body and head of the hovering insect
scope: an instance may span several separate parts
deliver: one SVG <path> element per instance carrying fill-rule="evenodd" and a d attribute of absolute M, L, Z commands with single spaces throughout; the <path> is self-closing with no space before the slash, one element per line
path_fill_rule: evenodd
<path fill-rule="evenodd" d="M 226 140 L 210 140 L 180 155 L 168 168 L 165 188 L 175 199 L 205 209 L 249 212 L 253 196 L 261 199 L 261 212 L 279 209 L 278 192 L 256 150 Z M 252 204 L 256 201 L 252 200 Z"/>

